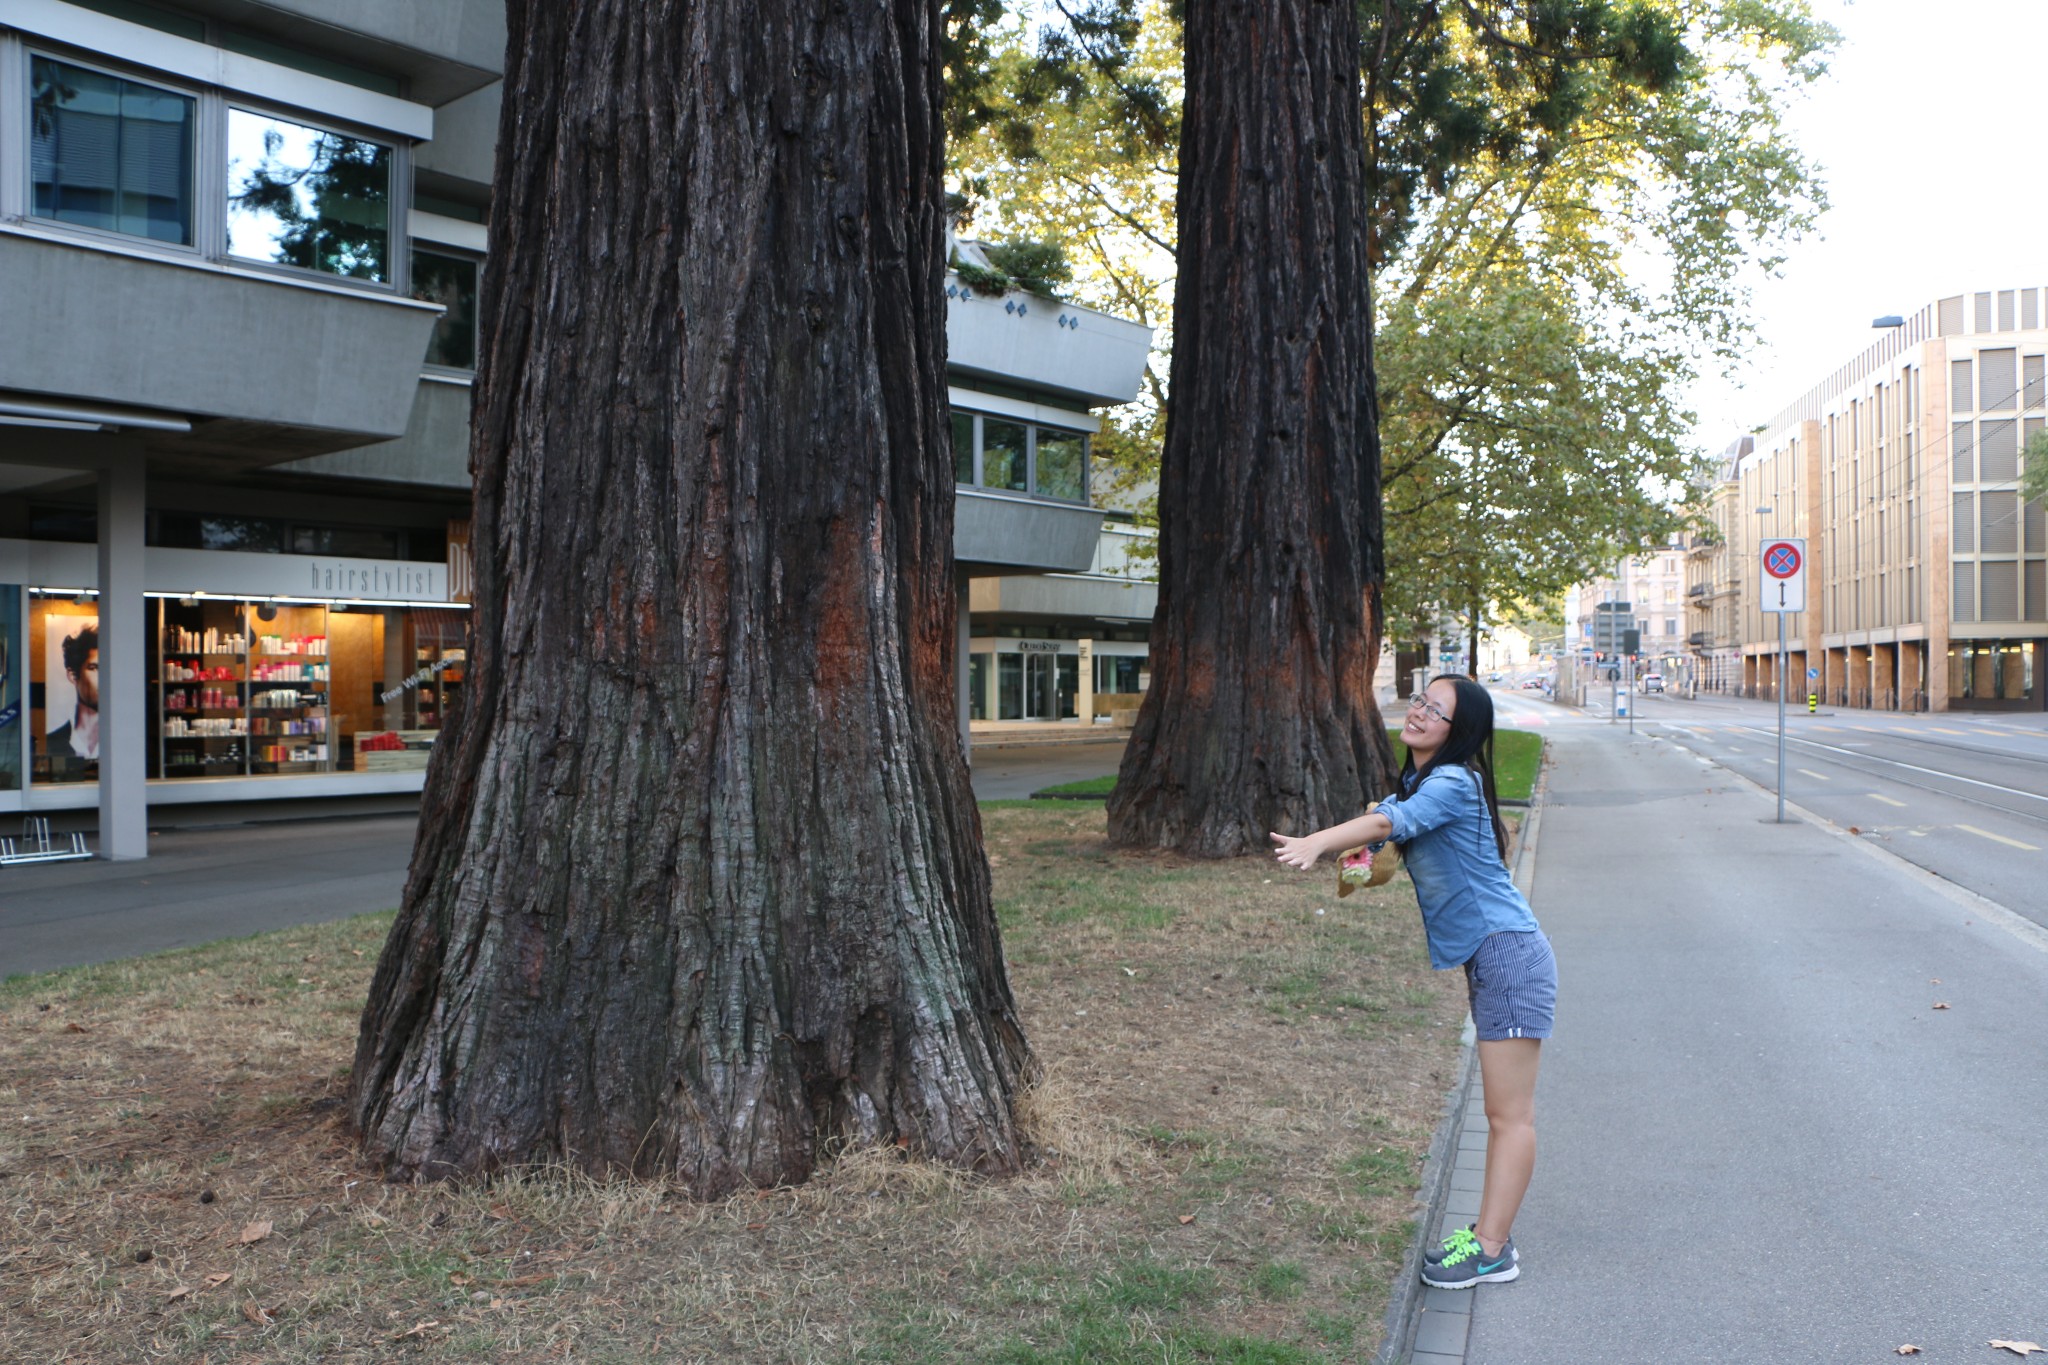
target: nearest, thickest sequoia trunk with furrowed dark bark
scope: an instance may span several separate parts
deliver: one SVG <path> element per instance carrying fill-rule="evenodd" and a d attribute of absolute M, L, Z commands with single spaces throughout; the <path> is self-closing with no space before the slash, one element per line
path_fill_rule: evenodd
<path fill-rule="evenodd" d="M 952 710 L 936 14 L 508 6 L 469 700 L 350 1097 L 393 1175 L 1018 1160 Z"/>

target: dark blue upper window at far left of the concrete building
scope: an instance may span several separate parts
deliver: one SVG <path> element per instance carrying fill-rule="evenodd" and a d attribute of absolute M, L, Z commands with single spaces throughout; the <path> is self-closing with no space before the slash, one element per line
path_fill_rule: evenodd
<path fill-rule="evenodd" d="M 31 213 L 193 246 L 193 96 L 35 57 Z"/>

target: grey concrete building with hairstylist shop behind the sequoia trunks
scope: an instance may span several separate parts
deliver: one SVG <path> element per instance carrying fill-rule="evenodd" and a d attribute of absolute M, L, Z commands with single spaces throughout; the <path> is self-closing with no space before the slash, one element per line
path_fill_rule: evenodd
<path fill-rule="evenodd" d="M 0 814 L 131 857 L 152 804 L 420 788 L 504 45 L 500 0 L 0 6 Z M 1090 636 L 1141 686 L 1090 438 L 1149 329 L 950 278 L 948 342 L 963 608 L 995 583 L 963 724 L 1077 702 Z"/>

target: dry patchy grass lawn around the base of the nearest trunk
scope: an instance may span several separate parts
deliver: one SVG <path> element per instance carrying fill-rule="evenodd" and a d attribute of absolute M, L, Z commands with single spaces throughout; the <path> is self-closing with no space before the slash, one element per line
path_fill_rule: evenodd
<path fill-rule="evenodd" d="M 1040 1160 L 692 1203 L 385 1185 L 340 1097 L 389 917 L 0 982 L 0 1359 L 1366 1361 L 1458 1056 L 1405 880 L 983 808 Z"/>

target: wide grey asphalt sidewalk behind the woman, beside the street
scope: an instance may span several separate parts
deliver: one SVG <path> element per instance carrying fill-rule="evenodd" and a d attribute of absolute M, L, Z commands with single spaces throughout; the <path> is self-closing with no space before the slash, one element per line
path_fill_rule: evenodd
<path fill-rule="evenodd" d="M 1649 735 L 1575 726 L 1548 796 L 1542 1156 L 1466 1359 L 2048 1340 L 2048 935 Z"/>

